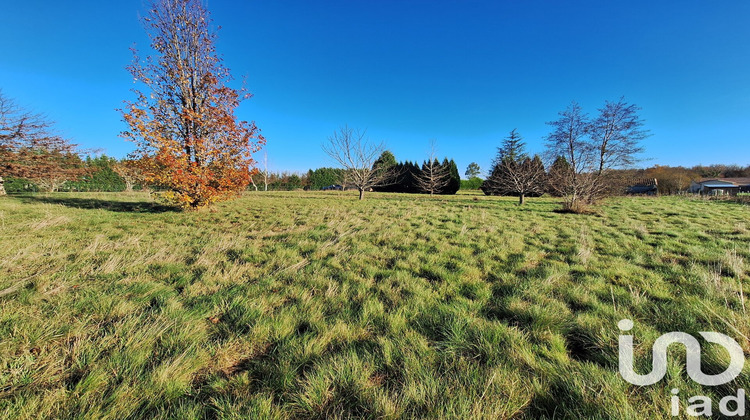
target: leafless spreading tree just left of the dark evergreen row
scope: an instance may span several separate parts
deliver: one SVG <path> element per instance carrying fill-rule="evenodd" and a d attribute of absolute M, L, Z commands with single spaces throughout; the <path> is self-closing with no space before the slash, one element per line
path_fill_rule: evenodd
<path fill-rule="evenodd" d="M 343 126 L 328 137 L 323 151 L 341 165 L 346 172 L 346 181 L 359 191 L 359 199 L 365 191 L 387 185 L 394 179 L 393 171 L 375 165 L 385 151 L 383 143 L 373 143 L 365 131 Z"/>

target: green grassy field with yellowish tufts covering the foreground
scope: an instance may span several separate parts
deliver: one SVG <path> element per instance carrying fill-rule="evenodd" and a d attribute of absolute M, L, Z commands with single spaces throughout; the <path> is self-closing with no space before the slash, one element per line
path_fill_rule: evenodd
<path fill-rule="evenodd" d="M 664 418 L 715 397 L 668 331 L 750 350 L 750 210 L 618 198 L 248 193 L 174 212 L 138 194 L 0 199 L 7 418 Z M 704 347 L 706 371 L 728 359 Z"/>

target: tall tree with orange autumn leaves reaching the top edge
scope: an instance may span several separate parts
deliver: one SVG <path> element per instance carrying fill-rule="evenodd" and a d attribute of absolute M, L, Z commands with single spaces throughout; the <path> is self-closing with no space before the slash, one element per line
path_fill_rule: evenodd
<path fill-rule="evenodd" d="M 251 95 L 226 86 L 232 77 L 216 53 L 210 13 L 199 0 L 158 0 L 143 22 L 157 55 L 144 61 L 133 50 L 128 70 L 147 92 L 133 89 L 137 100 L 122 110 L 143 181 L 183 208 L 236 195 L 265 139 L 234 115 Z"/>

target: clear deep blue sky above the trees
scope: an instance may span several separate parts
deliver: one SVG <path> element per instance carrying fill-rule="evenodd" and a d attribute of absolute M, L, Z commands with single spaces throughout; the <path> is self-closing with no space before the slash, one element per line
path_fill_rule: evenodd
<path fill-rule="evenodd" d="M 571 100 L 643 108 L 652 164 L 750 164 L 750 2 L 209 0 L 218 50 L 255 96 L 241 118 L 272 170 L 332 165 L 320 145 L 366 128 L 398 160 L 435 139 L 487 169 L 513 128 L 543 150 Z M 132 145 L 115 111 L 148 42 L 141 0 L 5 1 L 0 89 L 86 148 Z M 239 86 L 239 85 L 238 85 Z"/>

